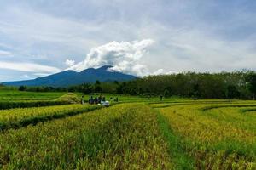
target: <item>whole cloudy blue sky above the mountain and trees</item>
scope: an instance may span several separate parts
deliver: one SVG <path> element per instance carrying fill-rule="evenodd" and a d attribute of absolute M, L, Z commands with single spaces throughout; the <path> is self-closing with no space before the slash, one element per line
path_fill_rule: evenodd
<path fill-rule="evenodd" d="M 0 0 L 0 82 L 113 65 L 256 70 L 253 0 Z"/>

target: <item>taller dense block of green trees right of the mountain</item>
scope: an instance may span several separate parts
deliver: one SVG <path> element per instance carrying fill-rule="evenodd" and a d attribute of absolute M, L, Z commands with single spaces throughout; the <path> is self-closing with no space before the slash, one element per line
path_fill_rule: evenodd
<path fill-rule="evenodd" d="M 117 88 L 125 94 L 162 94 L 213 99 L 253 99 L 256 76 L 253 71 L 222 73 L 186 72 L 148 76 L 123 82 Z"/>

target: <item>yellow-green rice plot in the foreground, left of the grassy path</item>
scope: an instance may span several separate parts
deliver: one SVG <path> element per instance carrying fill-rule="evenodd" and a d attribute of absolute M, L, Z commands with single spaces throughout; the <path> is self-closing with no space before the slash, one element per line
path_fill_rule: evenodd
<path fill-rule="evenodd" d="M 170 169 L 154 111 L 114 105 L 0 135 L 9 169 Z"/>

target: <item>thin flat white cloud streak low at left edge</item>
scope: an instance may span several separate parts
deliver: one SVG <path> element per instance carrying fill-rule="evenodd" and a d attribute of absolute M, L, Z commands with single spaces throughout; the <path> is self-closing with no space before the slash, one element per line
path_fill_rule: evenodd
<path fill-rule="evenodd" d="M 61 71 L 60 69 L 48 66 L 38 65 L 35 63 L 15 63 L 0 61 L 0 69 L 9 69 L 14 71 L 27 71 L 27 72 L 44 72 L 44 73 L 55 73 Z"/>

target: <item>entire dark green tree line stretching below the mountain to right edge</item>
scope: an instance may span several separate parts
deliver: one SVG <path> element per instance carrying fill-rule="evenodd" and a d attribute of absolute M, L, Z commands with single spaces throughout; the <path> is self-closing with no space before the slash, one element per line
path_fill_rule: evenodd
<path fill-rule="evenodd" d="M 137 78 L 128 82 L 84 83 L 68 88 L 24 87 L 26 91 L 69 91 L 84 94 L 109 93 L 140 96 L 180 96 L 196 99 L 255 99 L 256 72 L 183 72 Z"/>

